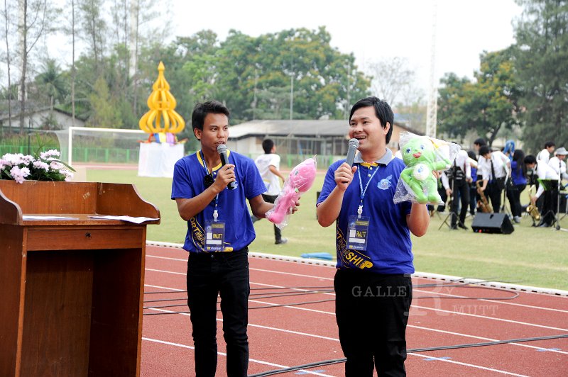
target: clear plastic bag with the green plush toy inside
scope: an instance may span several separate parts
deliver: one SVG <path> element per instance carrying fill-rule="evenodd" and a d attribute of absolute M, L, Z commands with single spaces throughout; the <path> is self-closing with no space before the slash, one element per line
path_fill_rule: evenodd
<path fill-rule="evenodd" d="M 406 167 L 400 173 L 393 201 L 443 204 L 432 171 L 451 167 L 461 147 L 453 142 L 413 133 L 401 134 L 399 145 Z"/>

